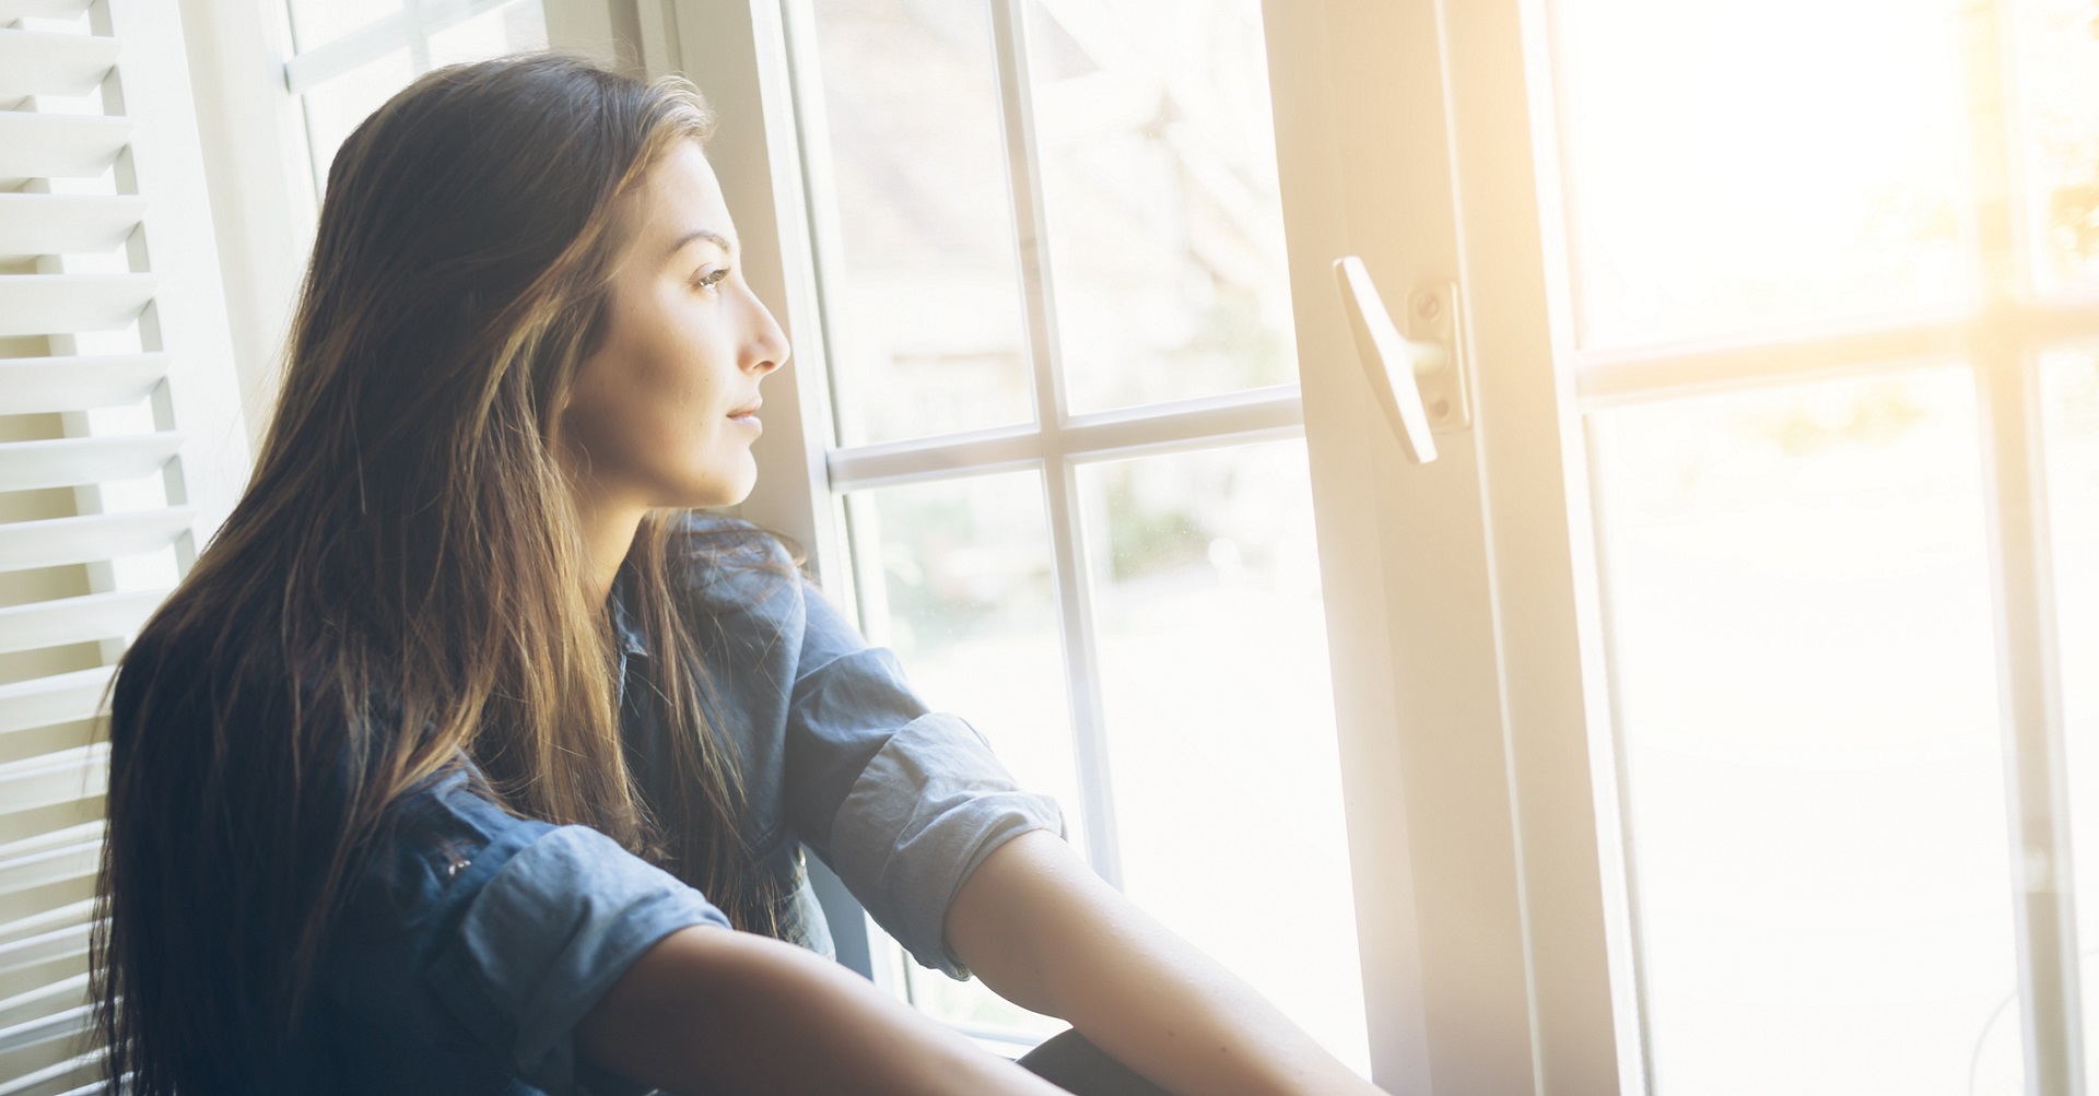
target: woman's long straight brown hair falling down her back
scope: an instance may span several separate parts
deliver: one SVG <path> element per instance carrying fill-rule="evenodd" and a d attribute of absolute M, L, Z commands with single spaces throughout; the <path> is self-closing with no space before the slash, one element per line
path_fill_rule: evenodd
<path fill-rule="evenodd" d="M 678 514 L 626 569 L 693 789 L 653 819 L 550 447 L 626 197 L 707 126 L 691 84 L 535 55 L 424 76 L 336 155 L 254 479 L 118 672 L 94 995 L 130 1092 L 246 1088 L 388 806 L 462 758 L 775 928 L 676 611 Z"/>

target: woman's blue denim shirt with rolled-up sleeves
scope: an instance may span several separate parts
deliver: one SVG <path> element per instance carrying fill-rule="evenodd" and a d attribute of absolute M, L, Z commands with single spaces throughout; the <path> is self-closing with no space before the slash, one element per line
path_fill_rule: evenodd
<path fill-rule="evenodd" d="M 695 517 L 680 544 L 712 712 L 739 752 L 766 863 L 798 894 L 791 939 L 829 951 L 800 873 L 808 848 L 917 962 L 966 976 L 947 949 L 947 905 L 999 844 L 1062 831 L 1054 800 L 1022 792 L 963 720 L 905 684 L 770 538 L 720 558 L 701 540 L 749 531 Z M 762 546 L 762 548 L 756 548 Z M 735 550 L 730 552 L 730 556 Z M 760 567 L 749 567 L 758 563 Z M 621 649 L 621 735 L 649 802 L 684 789 L 651 705 L 628 584 L 611 613 Z M 399 806 L 323 960 L 313 1023 L 285 1092 L 634 1094 L 575 1054 L 575 1025 L 663 936 L 726 928 L 707 899 L 577 825 L 516 819 L 453 773 Z"/>

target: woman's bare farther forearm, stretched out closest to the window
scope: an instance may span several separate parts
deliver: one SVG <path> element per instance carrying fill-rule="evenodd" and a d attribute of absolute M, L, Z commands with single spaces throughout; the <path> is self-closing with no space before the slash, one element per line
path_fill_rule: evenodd
<path fill-rule="evenodd" d="M 1070 1020 L 1169 1092 L 1377 1092 L 1045 831 L 1005 842 L 976 867 L 949 905 L 947 941 L 984 985 Z"/>

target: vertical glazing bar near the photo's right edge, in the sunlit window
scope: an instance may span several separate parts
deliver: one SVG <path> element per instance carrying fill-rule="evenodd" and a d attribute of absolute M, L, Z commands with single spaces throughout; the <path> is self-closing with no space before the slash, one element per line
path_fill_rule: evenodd
<path fill-rule="evenodd" d="M 2063 703 L 2051 613 L 2038 378 L 2028 367 L 2019 323 L 2026 279 L 2011 176 L 2005 15 L 1998 2 L 1977 2 L 1960 13 L 1984 300 L 1971 353 L 1992 542 L 1998 703 L 2011 737 L 2007 785 L 2026 1092 L 2078 1096 L 2084 1092 L 2084 1069 Z"/>

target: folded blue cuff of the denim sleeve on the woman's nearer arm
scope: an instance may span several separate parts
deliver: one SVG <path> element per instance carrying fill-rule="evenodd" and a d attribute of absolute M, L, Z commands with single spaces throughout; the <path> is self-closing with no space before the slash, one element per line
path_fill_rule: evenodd
<path fill-rule="evenodd" d="M 569 1096 L 581 1092 L 575 1025 L 634 960 L 695 924 L 728 920 L 605 834 L 565 825 L 489 880 L 432 974 L 449 1010 L 506 1048 L 527 1083 Z"/>

